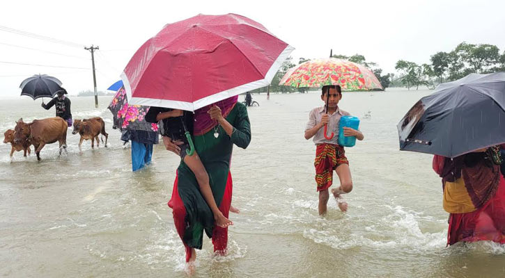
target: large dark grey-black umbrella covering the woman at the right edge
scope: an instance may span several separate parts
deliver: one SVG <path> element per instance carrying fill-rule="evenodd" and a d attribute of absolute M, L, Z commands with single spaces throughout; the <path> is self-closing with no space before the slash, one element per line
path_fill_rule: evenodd
<path fill-rule="evenodd" d="M 456 157 L 505 142 L 505 72 L 437 86 L 398 123 L 400 149 Z"/>

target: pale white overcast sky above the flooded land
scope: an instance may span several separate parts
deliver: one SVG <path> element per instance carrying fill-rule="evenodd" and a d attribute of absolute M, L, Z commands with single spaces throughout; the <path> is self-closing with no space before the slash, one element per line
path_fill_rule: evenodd
<path fill-rule="evenodd" d="M 71 95 L 93 90 L 95 54 L 98 90 L 118 81 L 134 52 L 171 22 L 199 13 L 236 13 L 263 24 L 295 47 L 293 58 L 362 54 L 384 72 L 397 60 L 429 63 L 437 51 L 460 42 L 505 49 L 505 1 L 2 1 L 0 97 L 20 95 L 33 74 L 58 77 Z M 82 47 L 4 31 L 35 33 Z M 8 62 L 8 63 L 5 63 Z M 32 65 L 17 65 L 23 63 Z M 51 65 L 54 67 L 47 67 Z"/>

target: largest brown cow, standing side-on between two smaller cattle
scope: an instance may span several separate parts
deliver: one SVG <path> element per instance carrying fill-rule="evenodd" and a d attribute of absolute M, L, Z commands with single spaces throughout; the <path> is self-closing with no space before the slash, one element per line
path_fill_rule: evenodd
<path fill-rule="evenodd" d="M 52 144 L 56 141 L 60 143 L 61 149 L 67 152 L 67 129 L 68 124 L 61 117 L 48 117 L 42 120 L 33 120 L 33 122 L 23 122 L 23 118 L 16 122 L 14 129 L 14 142 L 30 142 L 37 154 L 37 160 L 40 161 L 40 150 L 46 144 Z"/>

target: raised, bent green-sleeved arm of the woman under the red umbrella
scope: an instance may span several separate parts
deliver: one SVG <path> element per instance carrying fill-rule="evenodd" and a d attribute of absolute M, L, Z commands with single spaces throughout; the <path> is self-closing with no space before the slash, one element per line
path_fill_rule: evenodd
<path fill-rule="evenodd" d="M 217 106 L 212 106 L 209 110 L 210 118 L 212 120 L 217 120 L 219 125 L 222 126 L 224 131 L 228 136 L 230 136 L 231 142 L 241 147 L 242 149 L 247 148 L 251 142 L 251 123 L 249 122 L 249 116 L 247 115 L 247 108 L 242 104 L 235 104 L 238 111 L 238 118 L 235 120 L 235 126 L 232 126 L 222 114 L 222 111 Z"/>

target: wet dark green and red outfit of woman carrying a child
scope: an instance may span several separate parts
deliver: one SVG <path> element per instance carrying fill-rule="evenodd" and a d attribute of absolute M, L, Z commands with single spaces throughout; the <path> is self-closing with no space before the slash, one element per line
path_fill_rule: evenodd
<path fill-rule="evenodd" d="M 236 97 L 234 98 L 236 101 Z M 219 105 L 223 116 L 233 126 L 233 133 L 228 136 L 221 126 L 200 124 L 205 122 L 209 107 L 195 111 L 194 146 L 202 164 L 207 170 L 212 195 L 219 210 L 225 217 L 231 204 L 232 181 L 230 161 L 233 145 L 246 148 L 251 141 L 251 128 L 247 109 L 243 104 L 227 103 Z M 199 123 L 199 124 L 196 124 Z M 208 121 L 212 123 L 212 121 Z M 219 136 L 215 138 L 217 128 Z M 205 131 L 205 133 L 200 134 Z M 184 161 L 180 162 L 177 178 L 174 182 L 169 206 L 173 210 L 173 220 L 182 242 L 186 247 L 186 259 L 191 256 L 191 248 L 201 249 L 203 231 L 212 238 L 215 250 L 225 250 L 227 243 L 227 228 L 215 227 L 214 215 L 200 193 L 199 184 L 192 170 Z"/>

